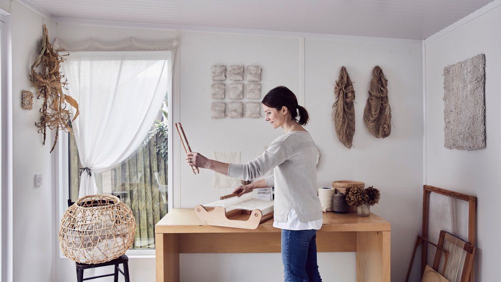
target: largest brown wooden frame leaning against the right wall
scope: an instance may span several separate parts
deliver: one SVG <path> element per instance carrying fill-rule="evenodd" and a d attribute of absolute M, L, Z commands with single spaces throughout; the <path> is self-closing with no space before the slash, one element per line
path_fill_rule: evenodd
<path fill-rule="evenodd" d="M 467 195 L 463 193 L 458 193 L 430 185 L 423 186 L 423 222 L 422 222 L 422 237 L 426 239 L 430 239 L 428 236 L 429 233 L 429 224 L 430 224 L 430 196 L 432 193 L 436 193 L 437 195 L 444 195 L 450 197 L 454 200 L 465 201 L 467 204 L 467 238 L 463 238 L 468 244 L 475 245 L 476 240 L 476 197 L 472 195 Z M 433 216 L 433 214 L 432 214 Z M 434 230 L 436 231 L 436 230 Z M 438 232 L 438 231 L 437 231 Z M 440 245 L 440 244 L 439 244 Z M 423 273 L 424 268 L 427 264 L 428 258 L 428 244 L 422 241 L 421 246 L 421 273 Z M 461 281 L 464 282 L 473 282 L 474 281 L 473 274 L 473 263 L 471 265 L 471 269 L 469 271 L 469 279 L 464 279 Z"/>

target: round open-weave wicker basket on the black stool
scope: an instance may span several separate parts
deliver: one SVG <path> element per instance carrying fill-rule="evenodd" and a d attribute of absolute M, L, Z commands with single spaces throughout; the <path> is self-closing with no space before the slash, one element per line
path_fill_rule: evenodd
<path fill-rule="evenodd" d="M 61 219 L 59 246 L 71 260 L 96 264 L 115 259 L 134 242 L 132 210 L 111 195 L 89 195 L 66 210 Z"/>

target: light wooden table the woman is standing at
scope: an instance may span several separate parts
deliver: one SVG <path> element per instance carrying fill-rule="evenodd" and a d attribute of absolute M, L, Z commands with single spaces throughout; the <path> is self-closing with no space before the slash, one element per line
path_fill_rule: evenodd
<path fill-rule="evenodd" d="M 318 251 L 356 251 L 357 282 L 390 281 L 390 222 L 373 213 L 323 216 Z M 155 225 L 156 280 L 179 282 L 179 253 L 280 252 L 280 240 L 273 218 L 249 230 L 207 225 L 193 209 L 172 209 Z"/>

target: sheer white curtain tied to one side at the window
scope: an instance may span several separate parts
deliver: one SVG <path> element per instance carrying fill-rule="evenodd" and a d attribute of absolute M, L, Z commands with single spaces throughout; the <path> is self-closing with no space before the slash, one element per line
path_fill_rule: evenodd
<path fill-rule="evenodd" d="M 71 51 L 76 48 L 55 43 L 69 50 L 61 71 L 68 79 L 65 92 L 79 104 L 80 115 L 72 124 L 83 166 L 79 197 L 97 194 L 94 174 L 113 168 L 144 141 L 171 91 L 177 49 L 176 42 L 151 48 L 162 51 L 145 50 L 144 44 L 131 39 L 115 44 L 90 42 L 74 45 L 80 50 L 107 51 Z"/>

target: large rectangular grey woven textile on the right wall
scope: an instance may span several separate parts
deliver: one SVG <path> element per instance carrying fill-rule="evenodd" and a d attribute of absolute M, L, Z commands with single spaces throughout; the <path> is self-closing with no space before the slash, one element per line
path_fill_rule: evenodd
<path fill-rule="evenodd" d="M 485 148 L 485 55 L 443 69 L 444 146 Z"/>

